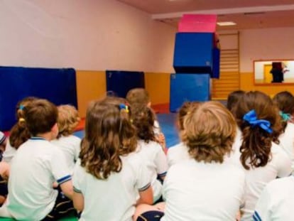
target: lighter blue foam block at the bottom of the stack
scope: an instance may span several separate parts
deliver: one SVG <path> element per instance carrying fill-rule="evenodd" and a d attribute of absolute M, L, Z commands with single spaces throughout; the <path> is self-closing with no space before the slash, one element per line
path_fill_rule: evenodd
<path fill-rule="evenodd" d="M 184 102 L 210 99 L 210 74 L 170 75 L 170 112 L 178 112 Z"/>

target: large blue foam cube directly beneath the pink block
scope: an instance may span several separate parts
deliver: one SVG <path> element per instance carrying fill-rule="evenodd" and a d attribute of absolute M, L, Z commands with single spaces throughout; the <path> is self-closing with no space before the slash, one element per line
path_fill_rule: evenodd
<path fill-rule="evenodd" d="M 176 33 L 175 72 L 212 73 L 214 33 Z"/>

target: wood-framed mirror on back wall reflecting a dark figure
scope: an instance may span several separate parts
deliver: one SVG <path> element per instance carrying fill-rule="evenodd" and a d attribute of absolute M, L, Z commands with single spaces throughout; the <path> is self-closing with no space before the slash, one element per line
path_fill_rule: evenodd
<path fill-rule="evenodd" d="M 254 82 L 294 83 L 294 60 L 254 60 Z"/>

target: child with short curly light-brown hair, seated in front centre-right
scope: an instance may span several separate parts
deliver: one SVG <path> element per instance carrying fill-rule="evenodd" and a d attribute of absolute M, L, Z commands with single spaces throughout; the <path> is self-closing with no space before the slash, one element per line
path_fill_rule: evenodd
<path fill-rule="evenodd" d="M 164 215 L 157 206 L 141 205 L 134 220 L 235 221 L 244 203 L 245 175 L 226 157 L 236 135 L 234 117 L 219 102 L 205 102 L 187 114 L 183 126 L 182 139 L 191 158 L 168 170 Z"/>

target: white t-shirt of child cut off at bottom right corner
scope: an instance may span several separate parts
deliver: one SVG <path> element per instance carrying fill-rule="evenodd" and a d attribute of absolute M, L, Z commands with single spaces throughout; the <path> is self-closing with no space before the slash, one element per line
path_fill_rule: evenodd
<path fill-rule="evenodd" d="M 254 218 L 257 221 L 294 220 L 294 177 L 271 181 L 263 189 L 256 203 Z"/>

